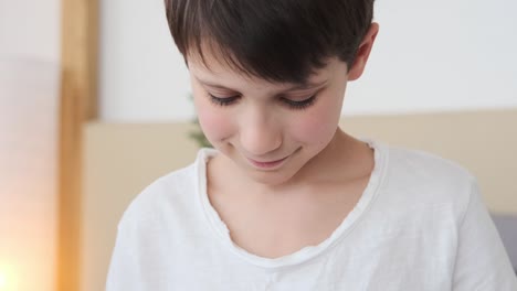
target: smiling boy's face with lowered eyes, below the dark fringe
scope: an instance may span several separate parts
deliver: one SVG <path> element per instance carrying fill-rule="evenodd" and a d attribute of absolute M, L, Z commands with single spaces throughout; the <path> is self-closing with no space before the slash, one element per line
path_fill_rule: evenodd
<path fill-rule="evenodd" d="M 283 184 L 333 141 L 348 79 L 345 63 L 330 60 L 300 87 L 243 76 L 208 55 L 205 62 L 210 69 L 189 60 L 201 128 L 253 181 Z"/>

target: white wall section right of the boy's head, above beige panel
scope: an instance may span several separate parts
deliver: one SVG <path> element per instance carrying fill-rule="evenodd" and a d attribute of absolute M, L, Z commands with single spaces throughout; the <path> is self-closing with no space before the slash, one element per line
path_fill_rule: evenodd
<path fill-rule="evenodd" d="M 346 112 L 517 106 L 517 2 L 378 1 L 381 24 Z"/>

